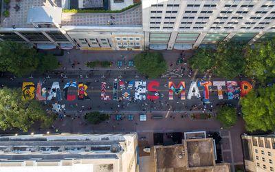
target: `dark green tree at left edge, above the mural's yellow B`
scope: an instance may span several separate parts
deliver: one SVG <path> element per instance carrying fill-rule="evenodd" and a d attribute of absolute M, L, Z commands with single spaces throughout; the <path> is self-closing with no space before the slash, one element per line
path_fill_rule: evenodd
<path fill-rule="evenodd" d="M 0 70 L 23 76 L 34 72 L 39 65 L 36 50 L 23 43 L 3 41 L 0 43 Z"/>

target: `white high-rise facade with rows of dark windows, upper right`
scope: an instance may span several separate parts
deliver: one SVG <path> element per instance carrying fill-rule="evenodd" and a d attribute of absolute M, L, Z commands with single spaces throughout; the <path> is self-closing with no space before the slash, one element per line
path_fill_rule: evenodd
<path fill-rule="evenodd" d="M 143 0 L 146 49 L 185 50 L 275 36 L 275 1 Z"/>

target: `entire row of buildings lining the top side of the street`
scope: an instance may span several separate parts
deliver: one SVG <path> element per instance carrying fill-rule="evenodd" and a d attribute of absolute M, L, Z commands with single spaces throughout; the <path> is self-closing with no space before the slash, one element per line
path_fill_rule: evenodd
<path fill-rule="evenodd" d="M 110 0 L 109 9 L 122 10 L 136 1 Z M 96 7 L 104 4 L 97 2 Z M 65 11 L 89 8 L 82 0 L 11 0 L 3 3 L 10 16 L 1 16 L 0 40 L 39 49 L 188 50 L 218 41 L 255 43 L 275 36 L 272 0 L 141 2 L 122 12 L 83 13 Z"/>

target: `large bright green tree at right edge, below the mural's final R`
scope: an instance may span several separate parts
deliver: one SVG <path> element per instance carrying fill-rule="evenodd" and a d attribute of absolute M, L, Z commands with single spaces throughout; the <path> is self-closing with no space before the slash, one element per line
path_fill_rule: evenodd
<path fill-rule="evenodd" d="M 275 127 L 275 85 L 252 90 L 241 98 L 241 107 L 248 131 L 273 131 Z"/>

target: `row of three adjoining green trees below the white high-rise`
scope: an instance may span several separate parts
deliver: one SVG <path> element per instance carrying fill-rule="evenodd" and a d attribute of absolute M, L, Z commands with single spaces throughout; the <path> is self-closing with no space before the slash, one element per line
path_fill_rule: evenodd
<path fill-rule="evenodd" d="M 221 42 L 217 50 L 199 48 L 189 59 L 189 64 L 200 73 L 210 73 L 225 78 L 241 74 L 267 83 L 275 76 L 275 40 L 247 45 Z"/>

